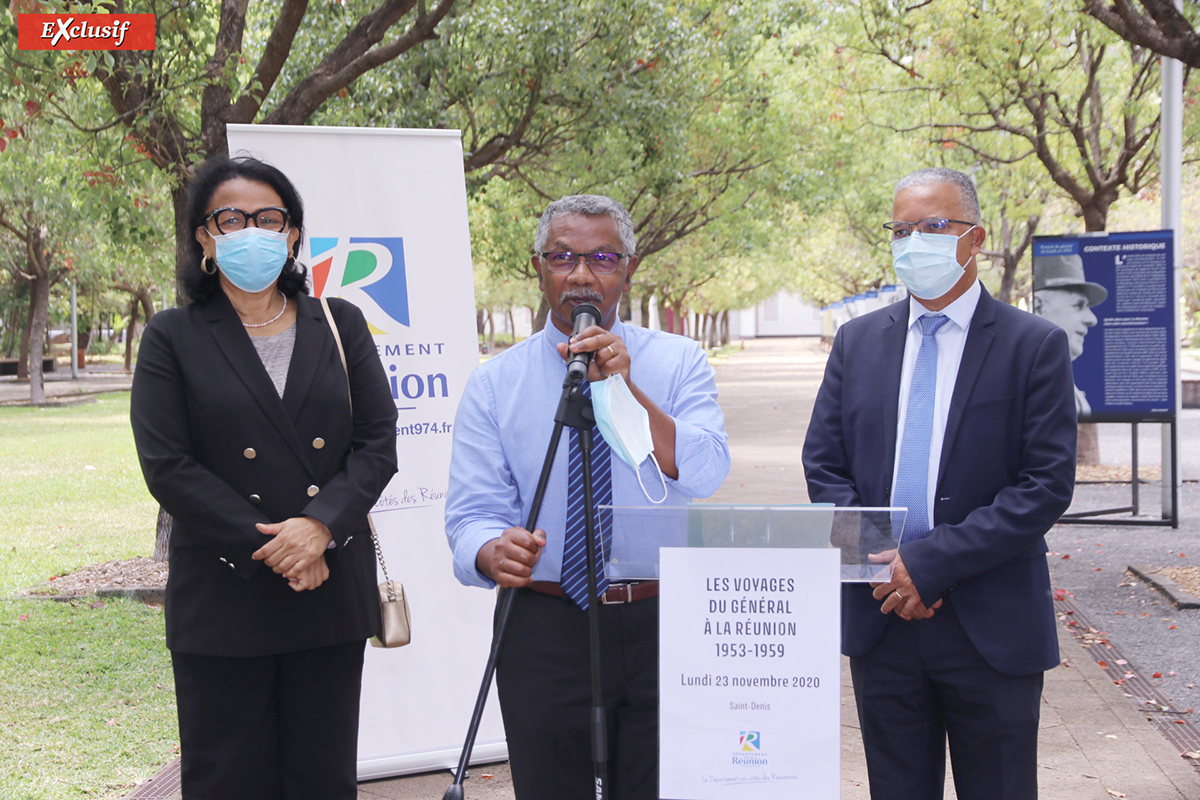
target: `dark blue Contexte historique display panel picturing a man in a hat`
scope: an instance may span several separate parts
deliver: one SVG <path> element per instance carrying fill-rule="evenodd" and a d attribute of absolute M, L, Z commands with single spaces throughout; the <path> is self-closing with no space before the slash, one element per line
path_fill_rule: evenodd
<path fill-rule="evenodd" d="M 1032 311 L 1070 342 L 1086 422 L 1164 422 L 1175 413 L 1170 230 L 1037 236 Z"/>

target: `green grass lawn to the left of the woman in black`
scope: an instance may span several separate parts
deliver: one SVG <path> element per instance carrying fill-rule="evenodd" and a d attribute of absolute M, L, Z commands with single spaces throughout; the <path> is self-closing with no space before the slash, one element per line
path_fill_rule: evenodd
<path fill-rule="evenodd" d="M 128 414 L 127 393 L 0 408 L 0 799 L 120 798 L 175 757 L 161 609 L 14 597 L 154 549 Z"/>

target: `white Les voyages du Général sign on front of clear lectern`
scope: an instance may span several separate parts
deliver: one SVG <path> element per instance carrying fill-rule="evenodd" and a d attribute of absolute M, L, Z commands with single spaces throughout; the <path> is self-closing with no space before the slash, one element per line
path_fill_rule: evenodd
<path fill-rule="evenodd" d="M 836 549 L 662 548 L 659 796 L 836 800 Z"/>

